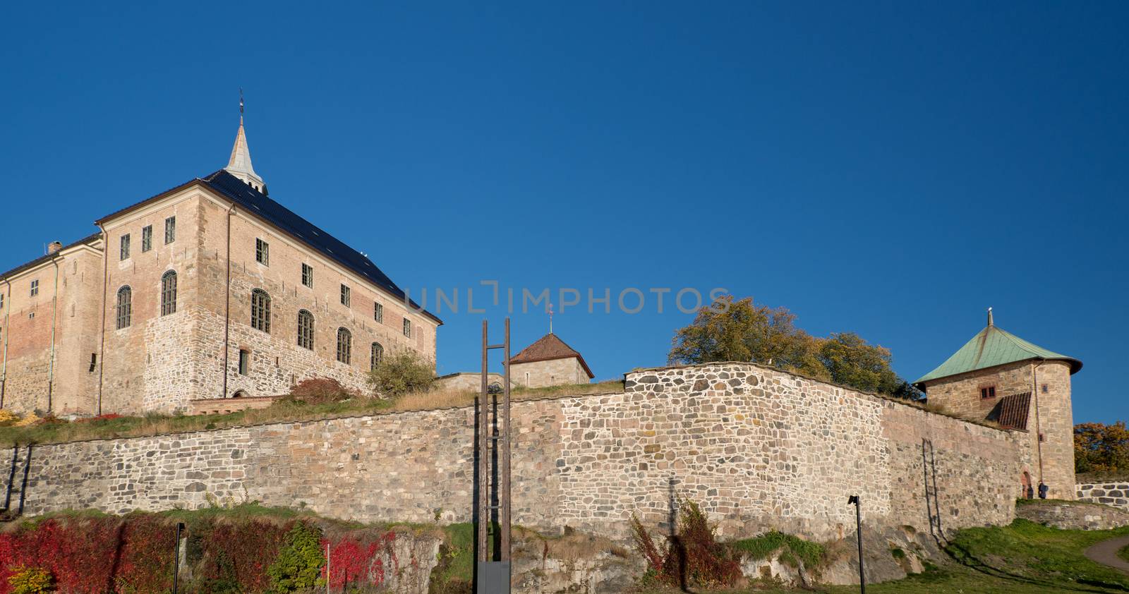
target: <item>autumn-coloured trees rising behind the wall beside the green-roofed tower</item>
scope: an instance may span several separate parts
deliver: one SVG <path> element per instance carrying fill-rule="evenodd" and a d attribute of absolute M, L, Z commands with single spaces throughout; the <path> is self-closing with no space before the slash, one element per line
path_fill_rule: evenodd
<path fill-rule="evenodd" d="M 671 364 L 754 361 L 866 392 L 917 399 L 921 393 L 890 367 L 890 350 L 851 332 L 817 338 L 796 327 L 785 307 L 721 296 L 674 335 Z"/>

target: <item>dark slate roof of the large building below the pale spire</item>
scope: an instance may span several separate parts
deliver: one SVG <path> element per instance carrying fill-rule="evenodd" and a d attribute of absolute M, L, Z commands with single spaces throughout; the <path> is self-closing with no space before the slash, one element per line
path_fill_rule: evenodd
<path fill-rule="evenodd" d="M 205 175 L 204 177 L 199 177 L 170 190 L 166 190 L 165 192 L 138 202 L 137 204 L 132 204 L 114 213 L 107 215 L 102 219 L 98 219 L 98 222 L 114 218 L 117 215 L 132 210 L 146 202 L 161 198 L 165 194 L 198 182 L 202 183 L 221 196 L 227 198 L 236 204 L 245 208 L 248 212 L 253 212 L 254 215 L 265 219 L 271 225 L 274 225 L 283 232 L 301 239 L 314 250 L 317 250 L 317 252 L 320 252 L 323 256 L 348 268 L 357 274 L 360 274 L 374 285 L 384 288 L 397 299 L 404 299 L 405 294 L 403 289 L 396 286 L 396 283 L 393 282 L 392 279 L 390 279 L 388 276 L 377 268 L 377 265 L 374 264 L 367 256 L 361 255 L 360 252 L 349 247 L 336 237 L 325 233 L 316 225 L 299 217 L 292 210 L 271 200 L 266 196 L 266 194 L 251 187 L 244 181 L 231 175 L 226 169 L 220 169 L 216 173 Z M 439 320 L 430 312 L 420 309 L 419 305 L 414 300 L 408 300 L 408 303 L 421 314 L 435 320 L 436 323 L 443 324 L 443 320 Z"/>

